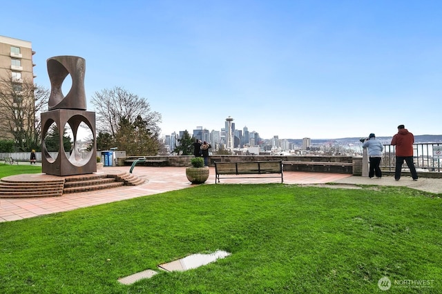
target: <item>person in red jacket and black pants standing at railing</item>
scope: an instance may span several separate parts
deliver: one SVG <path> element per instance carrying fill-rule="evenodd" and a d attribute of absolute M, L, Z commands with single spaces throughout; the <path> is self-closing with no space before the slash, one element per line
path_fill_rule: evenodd
<path fill-rule="evenodd" d="M 408 168 L 410 168 L 413 181 L 417 181 L 416 168 L 413 162 L 413 143 L 414 135 L 410 133 L 403 124 L 399 125 L 398 133 L 393 136 L 391 143 L 396 146 L 396 170 L 394 172 L 394 179 L 396 179 L 396 181 L 401 179 L 401 170 L 404 160 Z"/>

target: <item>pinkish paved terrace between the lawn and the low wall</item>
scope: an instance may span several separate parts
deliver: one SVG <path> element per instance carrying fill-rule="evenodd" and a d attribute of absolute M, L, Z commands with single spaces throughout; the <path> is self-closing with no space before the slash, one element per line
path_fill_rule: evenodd
<path fill-rule="evenodd" d="M 130 166 L 104 167 L 107 170 L 129 171 Z M 0 199 L 0 222 L 14 221 L 38 215 L 60 213 L 77 208 L 117 202 L 125 199 L 155 195 L 171 190 L 190 188 L 192 185 L 186 178 L 184 167 L 144 167 L 137 166 L 133 173 L 146 178 L 146 182 L 139 186 L 122 186 L 107 190 L 95 190 L 83 193 L 69 193 L 61 197 L 39 197 L 28 199 Z M 98 172 L 100 173 L 100 171 Z M 278 178 L 256 179 L 221 179 L 221 184 L 265 184 L 280 183 Z M 285 171 L 285 184 L 323 185 L 335 183 L 330 188 L 358 188 L 356 185 L 369 184 L 381 186 L 407 186 L 431 193 L 442 193 L 442 179 L 419 178 L 412 181 L 411 177 L 402 177 L 395 181 L 394 177 L 369 179 L 346 174 L 335 173 L 304 173 Z M 215 168 L 210 168 L 210 176 L 206 184 L 215 184 Z M 336 185 L 337 184 L 337 185 Z"/>

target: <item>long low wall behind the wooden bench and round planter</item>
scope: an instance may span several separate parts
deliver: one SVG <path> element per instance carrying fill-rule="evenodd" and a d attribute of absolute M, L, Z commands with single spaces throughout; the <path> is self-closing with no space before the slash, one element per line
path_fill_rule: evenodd
<path fill-rule="evenodd" d="M 130 166 L 131 162 L 125 162 L 125 160 L 133 160 L 140 158 L 140 156 L 131 157 L 119 157 L 119 166 Z M 165 161 L 162 166 L 191 166 L 191 159 L 193 155 L 188 156 L 147 156 L 145 157 L 145 162 L 140 162 L 137 166 L 157 166 L 157 161 Z M 149 162 L 151 160 L 151 162 Z M 345 173 L 353 175 L 362 175 L 362 157 L 351 156 L 271 156 L 271 155 L 212 155 L 209 157 L 209 166 L 214 166 L 214 162 L 247 162 L 247 161 L 309 161 L 324 162 L 325 164 L 286 164 L 284 170 L 298 170 L 298 171 L 309 171 L 315 173 Z M 345 163 L 346 166 L 339 165 L 329 165 L 327 162 L 333 163 Z M 352 164 L 352 166 L 348 166 Z"/>

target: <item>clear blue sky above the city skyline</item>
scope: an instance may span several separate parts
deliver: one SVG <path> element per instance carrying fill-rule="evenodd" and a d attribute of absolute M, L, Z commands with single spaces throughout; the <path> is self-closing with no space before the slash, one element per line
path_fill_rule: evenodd
<path fill-rule="evenodd" d="M 261 137 L 441 135 L 442 1 L 14 1 L 0 35 L 86 59 L 86 96 L 121 86 L 162 135 L 227 117 Z M 93 111 L 88 103 L 88 110 Z"/>

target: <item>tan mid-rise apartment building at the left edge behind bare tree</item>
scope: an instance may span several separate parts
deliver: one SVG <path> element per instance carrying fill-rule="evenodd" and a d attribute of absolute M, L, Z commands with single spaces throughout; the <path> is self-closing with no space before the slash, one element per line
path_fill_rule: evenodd
<path fill-rule="evenodd" d="M 2 87 L 0 99 L 7 99 L 8 95 L 6 94 L 14 92 L 15 95 L 10 95 L 10 101 L 13 101 L 13 99 L 17 99 L 17 93 L 24 90 L 23 86 L 34 84 L 33 68 L 35 64 L 32 63 L 32 55 L 34 54 L 31 42 L 0 36 L 0 87 Z M 8 124 L 6 121 L 8 116 L 5 116 L 3 111 L 1 114 L 0 124 L 5 126 Z M 4 128 L 0 128 L 0 137 L 12 139 L 12 135 Z"/>

